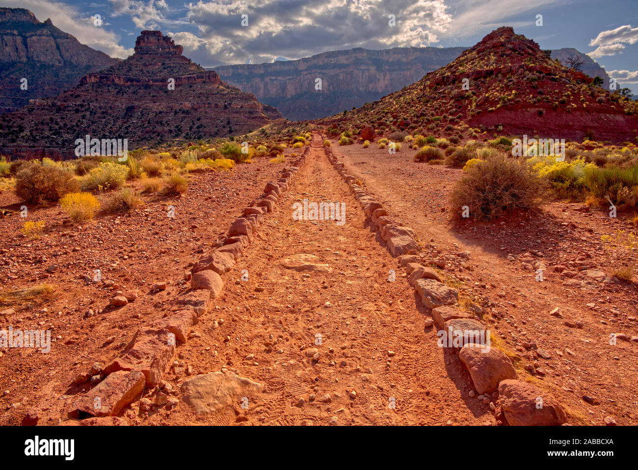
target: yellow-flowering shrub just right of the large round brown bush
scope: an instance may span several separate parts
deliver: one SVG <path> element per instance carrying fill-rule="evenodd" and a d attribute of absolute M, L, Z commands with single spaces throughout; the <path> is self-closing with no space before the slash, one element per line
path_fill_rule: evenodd
<path fill-rule="evenodd" d="M 595 168 L 593 163 L 585 163 L 584 159 L 573 161 L 556 161 L 555 157 L 533 157 L 528 159 L 538 173 L 538 177 L 548 182 L 549 186 L 561 197 L 581 196 L 585 186 L 585 173 Z"/>

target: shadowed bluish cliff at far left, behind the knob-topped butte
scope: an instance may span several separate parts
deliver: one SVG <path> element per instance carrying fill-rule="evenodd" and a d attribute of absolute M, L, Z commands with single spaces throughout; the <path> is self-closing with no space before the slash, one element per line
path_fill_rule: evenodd
<path fill-rule="evenodd" d="M 51 20 L 41 23 L 24 8 L 0 8 L 0 114 L 66 91 L 85 73 L 117 62 L 80 44 Z"/>

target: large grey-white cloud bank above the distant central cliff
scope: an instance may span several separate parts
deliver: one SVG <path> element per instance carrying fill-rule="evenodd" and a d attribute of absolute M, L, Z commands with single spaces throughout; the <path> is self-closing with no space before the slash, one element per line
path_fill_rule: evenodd
<path fill-rule="evenodd" d="M 452 21 L 444 0 L 199 0 L 186 8 L 205 41 L 205 47 L 197 42 L 194 60 L 207 65 L 272 62 L 278 56 L 355 47 L 427 46 Z M 241 26 L 244 14 L 247 27 Z M 390 26 L 389 15 L 395 15 L 396 26 Z"/>

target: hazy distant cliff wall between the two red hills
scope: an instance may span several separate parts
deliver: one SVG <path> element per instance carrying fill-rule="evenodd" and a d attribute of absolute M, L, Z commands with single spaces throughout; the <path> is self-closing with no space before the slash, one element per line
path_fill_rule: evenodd
<path fill-rule="evenodd" d="M 356 48 L 272 64 L 217 67 L 222 80 L 253 93 L 295 121 L 317 119 L 375 101 L 445 66 L 464 47 Z M 316 89 L 316 79 L 321 89 Z"/>

